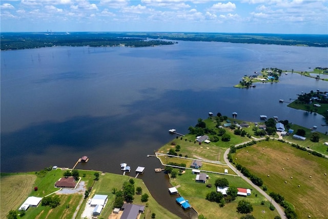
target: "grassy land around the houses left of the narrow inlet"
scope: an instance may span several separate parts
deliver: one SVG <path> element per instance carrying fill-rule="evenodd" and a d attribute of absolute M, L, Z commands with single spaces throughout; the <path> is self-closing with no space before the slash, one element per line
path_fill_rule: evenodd
<path fill-rule="evenodd" d="M 38 171 L 15 174 L 2 174 L 1 175 L 1 218 L 6 218 L 6 214 L 10 210 L 17 210 L 20 205 L 26 200 L 28 196 L 44 197 L 59 189 L 54 188 L 54 183 L 58 178 L 63 176 L 66 170 L 51 170 L 51 171 Z M 97 171 L 79 170 L 81 181 L 85 183 L 85 188 L 88 189 L 94 183 L 94 173 Z M 98 172 L 100 173 L 100 172 Z M 113 210 L 113 202 L 115 195 L 112 194 L 112 189 L 116 188 L 120 190 L 124 182 L 129 181 L 129 176 L 105 173 L 101 174 L 99 181 L 94 183 L 94 187 L 91 190 L 89 197 L 93 197 L 94 194 L 106 194 L 108 195 L 108 203 L 101 212 L 100 217 L 108 218 Z M 151 196 L 149 190 L 142 180 L 134 178 L 135 188 L 141 187 L 142 193 L 149 194 L 149 200 L 147 203 L 141 202 L 141 195 L 136 194 L 134 204 L 146 205 L 146 210 L 142 214 L 142 218 L 151 218 L 152 213 L 156 213 L 156 218 L 179 218 L 172 214 L 162 206 L 160 206 L 154 198 Z M 33 191 L 34 187 L 38 187 L 37 191 Z M 84 192 L 74 194 L 61 194 L 59 195 L 60 205 L 56 208 L 50 208 L 49 206 L 39 205 L 36 208 L 30 207 L 26 211 L 26 215 L 23 218 L 73 218 L 75 212 L 76 218 L 80 218 L 86 202 L 88 199 L 84 198 Z"/>

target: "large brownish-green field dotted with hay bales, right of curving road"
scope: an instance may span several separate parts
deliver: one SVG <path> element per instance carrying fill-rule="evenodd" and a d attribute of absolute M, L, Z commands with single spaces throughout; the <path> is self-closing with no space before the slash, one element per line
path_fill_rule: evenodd
<path fill-rule="evenodd" d="M 308 215 L 328 218 L 328 176 L 324 175 L 328 173 L 328 160 L 325 158 L 278 141 L 263 141 L 237 150 L 233 159 L 261 177 L 268 193 L 277 192 L 292 203 L 299 218 Z"/>

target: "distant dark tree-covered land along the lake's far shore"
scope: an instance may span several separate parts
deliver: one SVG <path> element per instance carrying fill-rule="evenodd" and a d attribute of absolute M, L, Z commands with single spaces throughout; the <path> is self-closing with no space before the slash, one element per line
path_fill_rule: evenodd
<path fill-rule="evenodd" d="M 328 47 L 324 34 L 193 33 L 193 32 L 3 32 L 1 50 L 53 46 L 149 47 L 176 41 Z M 155 39 L 155 40 L 149 40 Z"/>

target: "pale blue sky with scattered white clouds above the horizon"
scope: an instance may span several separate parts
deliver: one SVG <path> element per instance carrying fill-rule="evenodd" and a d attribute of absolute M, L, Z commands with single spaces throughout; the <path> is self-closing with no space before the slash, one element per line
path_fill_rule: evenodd
<path fill-rule="evenodd" d="M 328 0 L 1 0 L 1 32 L 328 34 Z"/>

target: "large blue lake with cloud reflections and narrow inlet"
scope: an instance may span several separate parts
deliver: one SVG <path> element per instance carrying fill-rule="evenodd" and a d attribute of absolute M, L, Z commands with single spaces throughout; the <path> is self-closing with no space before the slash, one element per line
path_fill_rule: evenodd
<path fill-rule="evenodd" d="M 328 83 L 282 74 L 280 83 L 237 89 L 244 74 L 262 68 L 308 71 L 328 66 L 328 48 L 179 42 L 146 48 L 53 47 L 1 51 L 1 171 L 34 171 L 57 165 L 121 173 L 134 170 L 156 200 L 188 218 L 168 195 L 166 176 L 147 158 L 208 112 L 259 122 L 279 116 L 304 127 L 323 117 L 286 107 L 296 94 L 328 90 Z M 158 189 L 160 188 L 160 189 Z M 169 200 L 169 201 L 168 201 Z"/>

